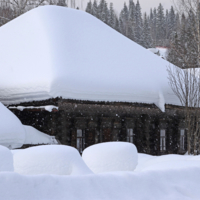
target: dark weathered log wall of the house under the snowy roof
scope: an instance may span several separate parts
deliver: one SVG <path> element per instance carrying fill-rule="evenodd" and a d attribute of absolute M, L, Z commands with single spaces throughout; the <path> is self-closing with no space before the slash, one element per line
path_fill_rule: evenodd
<path fill-rule="evenodd" d="M 127 141 L 127 129 L 133 129 L 133 143 L 140 153 L 161 155 L 185 152 L 179 150 L 180 128 L 183 127 L 180 108 L 167 106 L 166 112 L 162 113 L 155 105 L 148 104 L 103 104 L 62 99 L 53 102 L 59 110 L 11 110 L 23 124 L 55 135 L 61 144 L 75 148 L 77 129 L 85 133 L 85 148 L 100 142 Z M 161 129 L 166 130 L 164 152 L 160 151 Z"/>

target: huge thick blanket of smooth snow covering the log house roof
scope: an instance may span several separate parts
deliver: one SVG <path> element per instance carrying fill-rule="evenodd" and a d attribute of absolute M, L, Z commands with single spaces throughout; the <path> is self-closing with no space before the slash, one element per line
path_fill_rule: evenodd
<path fill-rule="evenodd" d="M 44 6 L 0 28 L 0 101 L 180 102 L 168 62 L 80 10 Z"/>

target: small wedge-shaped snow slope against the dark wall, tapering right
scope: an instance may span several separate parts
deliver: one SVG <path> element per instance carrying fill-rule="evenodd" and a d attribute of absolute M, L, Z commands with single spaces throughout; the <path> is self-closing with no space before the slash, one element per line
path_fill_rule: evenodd
<path fill-rule="evenodd" d="M 24 144 L 58 144 L 54 136 L 47 135 L 33 128 L 32 126 L 25 126 L 26 139 Z"/>

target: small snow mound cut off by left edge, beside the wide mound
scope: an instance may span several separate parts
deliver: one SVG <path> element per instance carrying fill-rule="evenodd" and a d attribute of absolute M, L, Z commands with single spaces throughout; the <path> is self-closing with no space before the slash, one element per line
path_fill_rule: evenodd
<path fill-rule="evenodd" d="M 2 171 L 14 171 L 14 168 L 11 151 L 0 145 L 0 172 Z"/>

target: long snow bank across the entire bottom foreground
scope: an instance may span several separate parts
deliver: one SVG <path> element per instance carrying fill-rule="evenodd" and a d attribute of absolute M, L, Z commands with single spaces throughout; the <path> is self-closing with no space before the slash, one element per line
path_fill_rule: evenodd
<path fill-rule="evenodd" d="M 198 200 L 200 168 L 86 176 L 0 173 L 3 200 Z"/>

